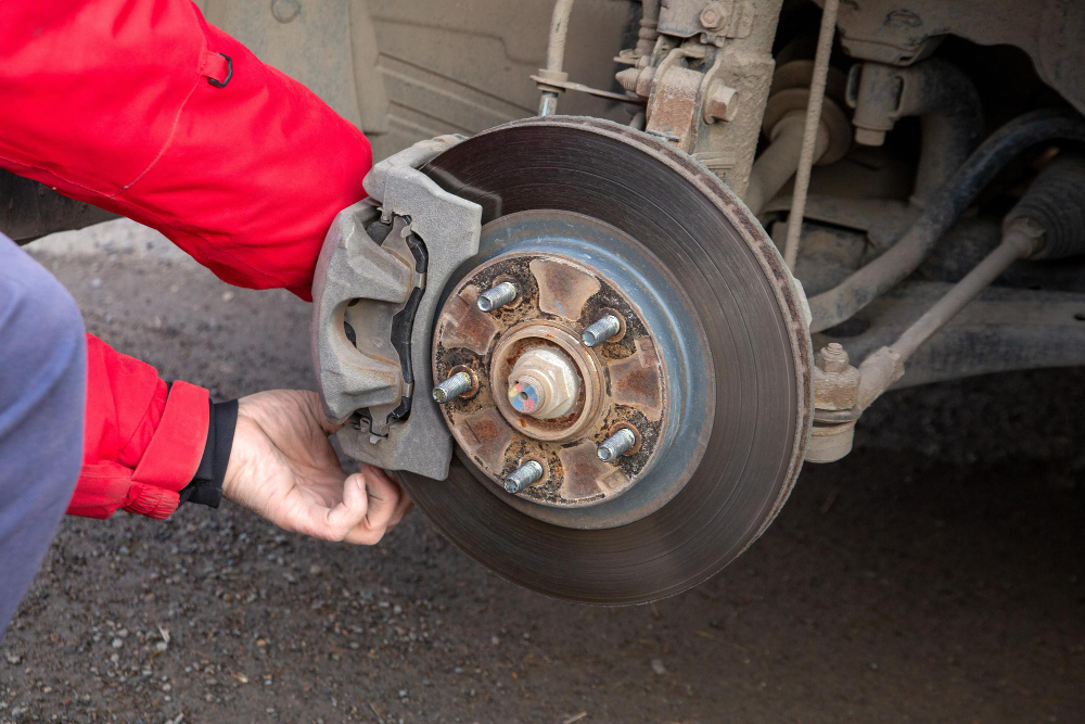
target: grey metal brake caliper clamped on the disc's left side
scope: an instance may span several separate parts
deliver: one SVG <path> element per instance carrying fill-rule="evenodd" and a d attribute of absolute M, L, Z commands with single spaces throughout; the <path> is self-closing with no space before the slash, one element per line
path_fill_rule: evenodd
<path fill-rule="evenodd" d="M 324 409 L 334 421 L 357 422 L 339 432 L 343 450 L 438 480 L 448 475 L 452 444 L 431 397 L 430 338 L 442 290 L 478 252 L 482 207 L 417 167 L 457 142 L 423 141 L 367 175 L 371 198 L 340 212 L 324 240 L 310 325 Z"/>

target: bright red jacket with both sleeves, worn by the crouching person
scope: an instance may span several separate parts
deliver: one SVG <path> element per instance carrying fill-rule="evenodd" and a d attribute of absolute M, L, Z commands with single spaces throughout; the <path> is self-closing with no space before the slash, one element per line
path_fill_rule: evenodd
<path fill-rule="evenodd" d="M 190 0 L 0 1 L 0 167 L 153 227 L 241 287 L 309 299 L 369 142 Z M 165 518 L 195 473 L 207 391 L 88 338 L 68 512 Z"/>

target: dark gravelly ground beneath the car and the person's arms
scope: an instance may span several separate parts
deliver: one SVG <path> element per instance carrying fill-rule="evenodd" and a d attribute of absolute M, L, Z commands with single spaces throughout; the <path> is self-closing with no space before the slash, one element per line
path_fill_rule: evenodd
<path fill-rule="evenodd" d="M 167 378 L 311 386 L 286 293 L 130 223 L 34 250 Z M 0 645 L 0 721 L 1085 721 L 1083 382 L 888 395 L 750 551 L 651 606 L 527 593 L 417 512 L 375 548 L 229 504 L 68 519 Z"/>

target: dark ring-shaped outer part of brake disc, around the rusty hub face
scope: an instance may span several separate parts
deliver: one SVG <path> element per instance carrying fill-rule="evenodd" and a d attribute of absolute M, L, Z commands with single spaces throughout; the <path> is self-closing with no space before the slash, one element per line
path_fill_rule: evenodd
<path fill-rule="evenodd" d="M 480 255 L 454 276 L 459 292 L 476 268 L 518 254 L 569 257 L 604 279 L 631 269 L 620 291 L 640 301 L 638 312 L 638 284 L 665 297 L 648 321 L 674 347 L 660 345 L 664 386 L 689 394 L 661 416 L 667 467 L 613 500 L 563 507 L 510 495 L 462 448 L 446 481 L 399 475 L 412 499 L 498 574 L 559 598 L 643 602 L 719 571 L 787 499 L 810 425 L 803 302 L 764 230 L 687 155 L 598 119 L 508 124 L 422 172 L 483 207 Z M 464 361 L 438 355 L 437 371 Z M 598 443 L 610 428 L 592 424 Z"/>

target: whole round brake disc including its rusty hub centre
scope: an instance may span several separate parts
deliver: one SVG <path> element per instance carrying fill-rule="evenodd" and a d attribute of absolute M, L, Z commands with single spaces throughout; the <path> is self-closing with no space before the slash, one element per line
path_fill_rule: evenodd
<path fill-rule="evenodd" d="M 473 374 L 443 408 L 458 459 L 445 481 L 398 473 L 410 497 L 472 557 L 559 598 L 643 602 L 718 572 L 787 499 L 810 427 L 805 302 L 760 224 L 688 155 L 591 118 L 500 126 L 422 172 L 484 226 L 434 332 L 435 380 Z M 516 300 L 481 312 L 502 280 Z M 607 313 L 621 333 L 578 348 Z M 525 350 L 567 385 L 561 416 L 524 415 L 539 402 L 537 373 L 515 377 Z M 600 461 L 623 425 L 636 445 Z M 527 459 L 542 480 L 506 492 Z"/>

